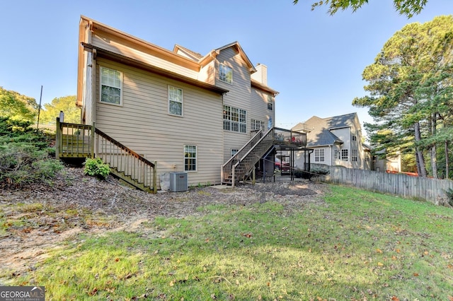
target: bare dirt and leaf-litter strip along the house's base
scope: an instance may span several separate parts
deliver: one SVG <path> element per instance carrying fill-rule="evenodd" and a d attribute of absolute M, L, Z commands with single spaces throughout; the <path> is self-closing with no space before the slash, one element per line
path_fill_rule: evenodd
<path fill-rule="evenodd" d="M 272 200 L 293 211 L 322 204 L 325 191 L 324 184 L 298 180 L 148 194 L 113 177 L 100 181 L 67 167 L 52 186 L 0 191 L 0 285 L 33 271 L 47 249 L 79 233 L 142 230 L 141 224 L 156 216 L 200 215 L 197 208 L 216 203 L 249 206 Z"/>

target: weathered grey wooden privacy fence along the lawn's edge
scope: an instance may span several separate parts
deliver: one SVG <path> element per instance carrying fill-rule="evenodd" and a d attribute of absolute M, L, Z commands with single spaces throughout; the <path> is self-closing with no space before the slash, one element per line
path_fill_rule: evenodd
<path fill-rule="evenodd" d="M 453 181 L 449 179 L 411 177 L 401 173 L 393 174 L 373 170 L 355 170 L 343 166 L 312 164 L 311 169 L 314 167 L 329 170 L 328 175 L 313 178 L 321 182 L 379 191 L 401 196 L 405 199 L 423 199 L 436 205 L 448 203 L 448 196 L 445 191 L 453 189 Z"/>

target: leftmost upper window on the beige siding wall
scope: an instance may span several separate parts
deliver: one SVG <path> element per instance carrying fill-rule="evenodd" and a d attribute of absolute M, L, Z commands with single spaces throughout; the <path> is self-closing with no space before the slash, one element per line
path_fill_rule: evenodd
<path fill-rule="evenodd" d="M 121 78 L 120 71 L 101 67 L 101 102 L 121 105 Z"/>

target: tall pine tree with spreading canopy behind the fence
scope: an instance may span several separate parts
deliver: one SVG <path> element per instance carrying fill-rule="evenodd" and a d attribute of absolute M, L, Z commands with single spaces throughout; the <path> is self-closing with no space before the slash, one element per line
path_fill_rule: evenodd
<path fill-rule="evenodd" d="M 419 175 L 426 177 L 425 152 L 437 175 L 439 120 L 449 118 L 452 103 L 453 16 L 411 23 L 394 34 L 374 64 L 365 68 L 369 95 L 352 105 L 368 107 L 374 125 L 366 124 L 372 142 L 415 154 Z M 382 132 L 391 133 L 385 139 Z M 411 141 L 411 143 L 408 143 Z"/>

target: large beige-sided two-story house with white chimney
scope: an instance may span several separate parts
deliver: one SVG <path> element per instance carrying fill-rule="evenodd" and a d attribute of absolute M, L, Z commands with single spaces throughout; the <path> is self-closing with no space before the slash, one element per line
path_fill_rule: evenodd
<path fill-rule="evenodd" d="M 81 16 L 81 123 L 156 161 L 158 177 L 188 172 L 189 185 L 219 184 L 222 164 L 273 126 L 277 94 L 239 42 L 205 55 L 170 51 Z"/>

